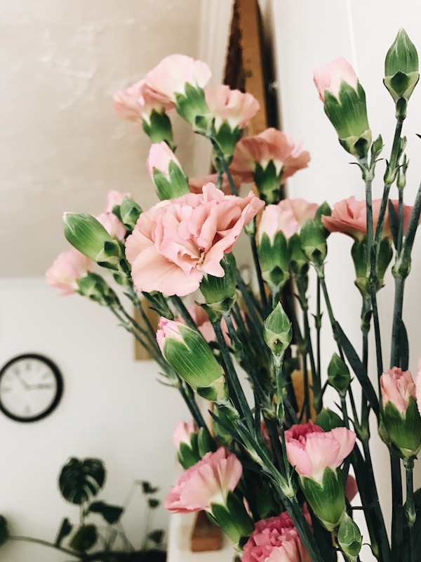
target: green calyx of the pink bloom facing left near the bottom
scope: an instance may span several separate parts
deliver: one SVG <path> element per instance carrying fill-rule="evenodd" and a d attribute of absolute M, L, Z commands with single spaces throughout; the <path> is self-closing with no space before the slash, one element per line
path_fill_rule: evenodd
<path fill-rule="evenodd" d="M 237 549 L 241 548 L 244 539 L 247 539 L 254 530 L 253 521 L 246 507 L 233 492 L 228 492 L 225 505 L 210 504 L 210 515 Z"/>

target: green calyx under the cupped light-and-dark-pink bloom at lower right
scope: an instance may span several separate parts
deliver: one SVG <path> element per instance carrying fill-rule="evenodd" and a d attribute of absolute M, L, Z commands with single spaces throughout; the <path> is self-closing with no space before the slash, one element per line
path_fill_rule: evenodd
<path fill-rule="evenodd" d="M 325 469 L 321 482 L 300 476 L 300 487 L 324 528 L 332 532 L 345 515 L 345 484 L 342 471 Z"/>

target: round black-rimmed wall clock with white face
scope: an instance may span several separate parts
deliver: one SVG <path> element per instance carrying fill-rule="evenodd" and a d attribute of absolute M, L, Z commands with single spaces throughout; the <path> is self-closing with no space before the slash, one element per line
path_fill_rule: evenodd
<path fill-rule="evenodd" d="M 15 421 L 48 416 L 60 402 L 62 391 L 60 370 L 44 355 L 17 355 L 0 370 L 0 410 Z"/>

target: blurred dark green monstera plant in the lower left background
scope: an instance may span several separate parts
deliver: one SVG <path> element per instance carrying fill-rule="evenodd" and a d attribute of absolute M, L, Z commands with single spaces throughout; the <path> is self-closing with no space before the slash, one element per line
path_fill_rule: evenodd
<path fill-rule="evenodd" d="M 163 531 L 150 529 L 151 511 L 160 504 L 156 498 L 158 488 L 147 481 L 135 481 L 123 506 L 117 506 L 98 499 L 106 475 L 100 459 L 72 457 L 60 471 L 58 487 L 67 502 L 79 506 L 78 523 L 63 518 L 54 542 L 48 542 L 11 535 L 6 518 L 0 516 L 0 545 L 10 540 L 34 542 L 70 554 L 81 562 L 164 562 Z M 136 549 L 123 530 L 121 518 L 138 488 L 145 497 L 145 529 L 142 544 Z"/>

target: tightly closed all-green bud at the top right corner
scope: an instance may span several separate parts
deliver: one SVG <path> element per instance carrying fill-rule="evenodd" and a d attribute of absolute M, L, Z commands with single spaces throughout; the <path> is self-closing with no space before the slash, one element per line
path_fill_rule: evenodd
<path fill-rule="evenodd" d="M 398 103 L 401 99 L 409 100 L 419 79 L 417 49 L 406 31 L 401 29 L 387 51 L 383 82 L 394 102 Z"/>

